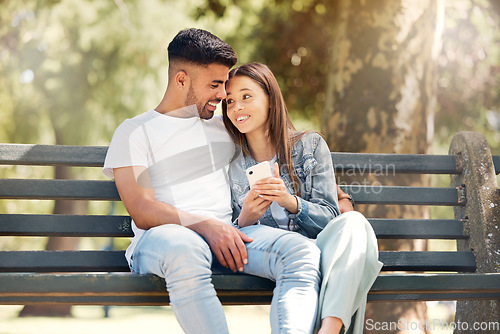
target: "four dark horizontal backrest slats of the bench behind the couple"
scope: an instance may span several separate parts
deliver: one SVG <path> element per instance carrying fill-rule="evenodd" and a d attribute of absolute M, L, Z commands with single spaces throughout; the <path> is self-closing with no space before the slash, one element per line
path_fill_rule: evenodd
<path fill-rule="evenodd" d="M 0 144 L 0 165 L 102 167 L 107 147 Z M 402 155 L 332 153 L 337 173 L 449 174 L 462 173 L 462 157 L 455 155 Z M 500 157 L 493 157 L 496 174 Z M 356 203 L 390 205 L 466 205 L 463 189 L 350 184 L 341 185 Z M 111 180 L 0 179 L 0 199 L 119 201 Z M 379 239 L 463 240 L 463 219 L 369 218 Z M 131 237 L 127 215 L 0 214 L 0 236 Z M 384 271 L 473 272 L 472 252 L 380 253 Z M 123 250 L 0 252 L 0 272 L 126 272 Z"/>

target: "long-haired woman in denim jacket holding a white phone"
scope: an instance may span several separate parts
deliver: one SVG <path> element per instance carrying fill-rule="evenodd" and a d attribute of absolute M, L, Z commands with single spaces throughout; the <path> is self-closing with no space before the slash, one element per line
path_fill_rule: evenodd
<path fill-rule="evenodd" d="M 316 238 L 323 275 L 319 333 L 347 331 L 356 311 L 354 333 L 362 333 L 366 295 L 382 263 L 366 219 L 339 210 L 340 188 L 326 142 L 316 132 L 295 130 L 276 78 L 263 64 L 233 69 L 226 93 L 224 124 L 241 149 L 229 170 L 235 224 L 265 224 Z M 262 161 L 275 162 L 274 177 L 250 189 L 245 171 Z"/>

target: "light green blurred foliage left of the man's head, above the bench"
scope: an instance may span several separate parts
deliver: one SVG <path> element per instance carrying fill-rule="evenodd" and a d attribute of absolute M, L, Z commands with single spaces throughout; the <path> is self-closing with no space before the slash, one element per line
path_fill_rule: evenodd
<path fill-rule="evenodd" d="M 198 2 L 3 4 L 2 142 L 108 143 L 121 121 L 161 99 L 171 38 L 209 24 L 188 17 Z"/>

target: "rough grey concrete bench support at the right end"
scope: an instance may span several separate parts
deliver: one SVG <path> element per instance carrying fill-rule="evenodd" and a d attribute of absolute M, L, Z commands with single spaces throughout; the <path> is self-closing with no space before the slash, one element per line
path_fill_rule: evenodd
<path fill-rule="evenodd" d="M 464 220 L 464 233 L 470 236 L 458 241 L 457 248 L 459 251 L 473 250 L 477 272 L 500 272 L 500 196 L 491 150 L 481 134 L 460 132 L 453 138 L 449 152 L 459 156 L 457 163 L 463 168 L 462 174 L 451 177 L 453 187 L 465 190 L 466 204 L 455 207 L 455 218 Z M 474 323 L 498 324 L 498 319 L 500 300 L 457 303 L 455 322 L 469 326 L 460 333 L 477 333 L 472 329 Z"/>

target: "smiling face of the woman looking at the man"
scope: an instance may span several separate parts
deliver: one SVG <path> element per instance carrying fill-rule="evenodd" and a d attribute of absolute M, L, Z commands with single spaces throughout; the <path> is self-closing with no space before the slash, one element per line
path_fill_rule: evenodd
<path fill-rule="evenodd" d="M 267 131 L 269 97 L 253 79 L 234 76 L 226 85 L 227 116 L 233 125 L 244 134 Z"/>

